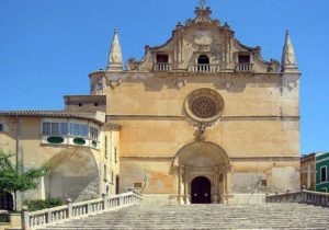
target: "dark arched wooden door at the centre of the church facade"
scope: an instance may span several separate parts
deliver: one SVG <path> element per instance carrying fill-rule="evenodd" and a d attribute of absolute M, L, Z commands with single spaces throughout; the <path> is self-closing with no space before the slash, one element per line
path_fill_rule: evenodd
<path fill-rule="evenodd" d="M 212 203 L 212 184 L 205 176 L 197 176 L 191 182 L 191 203 L 209 204 Z"/>

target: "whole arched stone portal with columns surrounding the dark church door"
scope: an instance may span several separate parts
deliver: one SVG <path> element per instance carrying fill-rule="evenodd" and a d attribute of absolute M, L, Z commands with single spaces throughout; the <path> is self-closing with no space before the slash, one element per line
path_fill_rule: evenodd
<path fill-rule="evenodd" d="M 195 141 L 173 158 L 178 175 L 178 203 L 225 203 L 229 158 L 216 143 Z M 196 194 L 196 195 L 195 195 Z"/>

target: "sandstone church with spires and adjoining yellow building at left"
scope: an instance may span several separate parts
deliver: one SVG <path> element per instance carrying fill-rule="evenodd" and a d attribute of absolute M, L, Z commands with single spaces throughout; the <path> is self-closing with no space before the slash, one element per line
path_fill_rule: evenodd
<path fill-rule="evenodd" d="M 163 45 L 124 67 L 114 32 L 91 95 L 64 111 L 0 112 L 0 141 L 50 174 L 24 197 L 76 200 L 139 191 L 157 204 L 261 202 L 299 189 L 299 71 L 241 44 L 201 4 Z M 254 195 L 251 195 L 254 194 Z"/>

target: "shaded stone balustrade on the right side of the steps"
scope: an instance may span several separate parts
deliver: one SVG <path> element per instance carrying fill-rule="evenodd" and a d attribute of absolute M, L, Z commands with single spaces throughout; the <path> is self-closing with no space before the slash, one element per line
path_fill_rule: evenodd
<path fill-rule="evenodd" d="M 294 193 L 268 195 L 266 203 L 304 203 L 329 207 L 329 193 L 300 191 Z"/>

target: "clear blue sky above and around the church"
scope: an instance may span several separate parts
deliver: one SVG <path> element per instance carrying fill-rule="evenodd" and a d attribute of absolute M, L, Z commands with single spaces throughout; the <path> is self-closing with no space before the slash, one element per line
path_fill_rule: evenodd
<path fill-rule="evenodd" d="M 113 30 L 124 59 L 161 45 L 197 0 L 0 0 L 0 110 L 63 110 L 63 95 L 88 94 L 105 68 Z M 207 0 L 245 45 L 280 60 L 291 31 L 300 79 L 302 153 L 329 151 L 329 1 Z"/>

